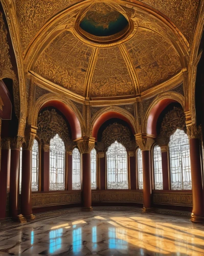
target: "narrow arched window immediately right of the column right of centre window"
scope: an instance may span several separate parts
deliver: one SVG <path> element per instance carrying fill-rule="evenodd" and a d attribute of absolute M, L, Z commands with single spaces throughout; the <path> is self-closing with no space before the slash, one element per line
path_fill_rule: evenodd
<path fill-rule="evenodd" d="M 162 152 L 161 152 L 161 147 L 158 145 L 154 146 L 153 159 L 154 159 L 154 189 L 163 189 Z"/>

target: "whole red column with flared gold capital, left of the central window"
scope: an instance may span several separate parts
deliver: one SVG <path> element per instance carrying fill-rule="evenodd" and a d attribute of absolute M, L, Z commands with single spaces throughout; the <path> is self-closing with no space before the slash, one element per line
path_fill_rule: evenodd
<path fill-rule="evenodd" d="M 92 186 L 90 170 L 90 152 L 95 146 L 95 138 L 83 137 L 77 140 L 82 154 L 82 203 L 84 211 L 92 211 Z"/>

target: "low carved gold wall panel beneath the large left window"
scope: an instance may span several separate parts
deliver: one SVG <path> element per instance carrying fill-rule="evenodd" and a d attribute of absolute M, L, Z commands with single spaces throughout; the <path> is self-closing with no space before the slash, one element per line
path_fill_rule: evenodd
<path fill-rule="evenodd" d="M 81 191 L 70 193 L 32 193 L 32 208 L 81 203 Z"/>

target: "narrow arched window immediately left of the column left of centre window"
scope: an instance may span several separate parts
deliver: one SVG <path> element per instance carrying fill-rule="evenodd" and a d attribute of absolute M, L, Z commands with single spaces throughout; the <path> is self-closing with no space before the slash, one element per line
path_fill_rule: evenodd
<path fill-rule="evenodd" d="M 76 147 L 72 152 L 72 189 L 81 189 L 81 155 Z"/>

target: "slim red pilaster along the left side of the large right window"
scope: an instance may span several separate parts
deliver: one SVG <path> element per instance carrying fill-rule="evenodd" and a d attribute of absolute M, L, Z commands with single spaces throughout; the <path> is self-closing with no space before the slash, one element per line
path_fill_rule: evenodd
<path fill-rule="evenodd" d="M 161 146 L 163 189 L 169 190 L 168 146 Z"/>

